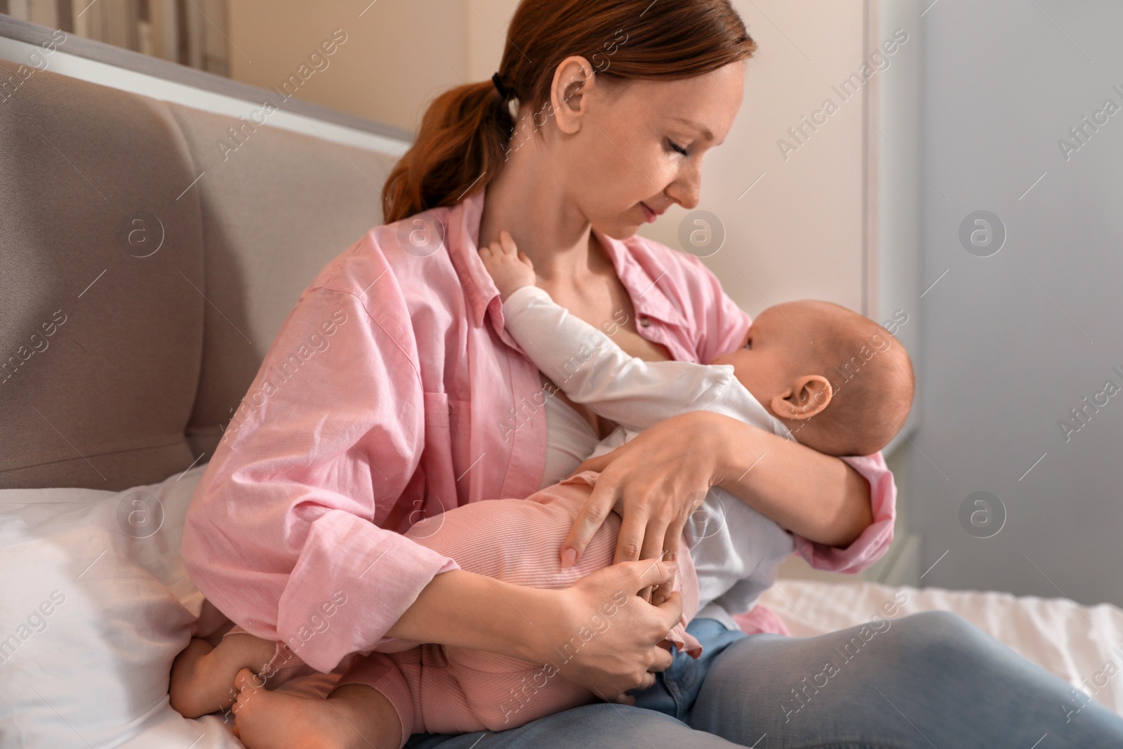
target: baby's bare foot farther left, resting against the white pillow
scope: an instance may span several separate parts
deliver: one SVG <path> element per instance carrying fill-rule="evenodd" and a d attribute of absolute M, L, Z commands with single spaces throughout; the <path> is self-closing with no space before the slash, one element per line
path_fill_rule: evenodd
<path fill-rule="evenodd" d="M 172 707 L 184 718 L 226 710 L 238 696 L 234 678 L 243 668 L 261 672 L 276 643 L 253 634 L 230 634 L 217 648 L 193 638 L 172 663 Z"/>

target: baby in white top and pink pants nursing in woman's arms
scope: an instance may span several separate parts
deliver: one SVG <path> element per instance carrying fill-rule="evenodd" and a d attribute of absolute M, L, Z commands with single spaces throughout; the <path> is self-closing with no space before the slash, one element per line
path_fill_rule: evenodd
<path fill-rule="evenodd" d="M 505 327 L 519 346 L 572 401 L 591 405 L 619 426 L 593 455 L 693 410 L 723 413 L 829 455 L 875 453 L 907 418 L 913 376 L 904 348 L 895 346 L 883 328 L 844 308 L 824 302 L 780 304 L 757 317 L 737 350 L 709 365 L 645 362 L 628 356 L 535 286 L 530 261 L 508 232 L 481 248 L 480 257 L 503 300 Z M 556 399 L 547 400 L 548 413 L 556 415 L 559 405 L 551 401 Z M 555 431 L 551 424 L 550 442 L 564 439 Z M 612 563 L 620 528 L 615 514 L 610 514 L 575 566 L 563 569 L 559 564 L 562 541 L 595 476 L 584 472 L 526 500 L 454 508 L 422 520 L 407 535 L 456 559 L 464 569 L 536 587 L 565 587 Z M 440 532 L 427 528 L 435 521 Z M 712 488 L 684 532 L 677 578 L 683 616 L 668 637 L 669 645 L 697 657 L 699 643 L 685 631 L 694 616 L 718 619 L 737 629 L 728 611 L 750 609 L 793 550 L 791 533 L 736 496 Z M 613 602 L 611 613 L 605 604 L 605 615 L 627 605 L 629 597 Z M 577 638 L 574 646 L 579 647 Z M 559 650 L 564 651 L 568 649 Z M 236 727 L 243 741 L 250 749 L 274 746 L 250 736 L 287 730 L 277 716 L 301 714 L 299 705 L 279 709 L 276 701 L 302 698 L 259 691 L 261 681 L 275 688 L 309 670 L 287 646 L 236 628 L 218 647 L 192 640 L 177 657 L 172 705 L 185 716 L 197 716 L 229 707 L 237 698 Z M 375 652 L 356 656 L 340 685 L 373 687 L 351 691 L 348 698 L 364 701 L 362 709 L 387 716 L 384 733 L 368 737 L 381 748 L 400 747 L 414 732 L 515 728 L 595 700 L 554 678 L 557 673 L 555 664 L 387 640 Z M 237 691 L 231 688 L 236 677 Z M 264 722 L 255 713 L 267 713 L 271 730 L 255 727 Z"/>

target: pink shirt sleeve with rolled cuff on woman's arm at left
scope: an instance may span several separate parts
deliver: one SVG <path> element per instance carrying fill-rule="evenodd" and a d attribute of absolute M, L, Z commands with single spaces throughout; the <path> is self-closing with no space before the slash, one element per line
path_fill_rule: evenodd
<path fill-rule="evenodd" d="M 316 284 L 301 295 L 183 533 L 188 572 L 214 605 L 322 672 L 372 649 L 435 575 L 456 568 L 377 524 L 424 482 L 416 341 L 386 276 L 376 296 Z"/>

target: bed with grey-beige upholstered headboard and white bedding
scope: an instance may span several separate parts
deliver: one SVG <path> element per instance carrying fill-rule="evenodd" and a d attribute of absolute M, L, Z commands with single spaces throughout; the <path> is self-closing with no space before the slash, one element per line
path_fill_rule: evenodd
<path fill-rule="evenodd" d="M 82 80 L 81 39 L 28 73 L 12 61 L 53 35 L 4 24 L 0 80 L 18 85 L 0 102 L 0 745 L 239 747 L 221 714 L 185 720 L 167 701 L 172 658 L 226 621 L 179 555 L 183 515 L 303 286 L 381 222 L 402 136 L 296 102 L 250 128 L 268 92 L 232 83 L 226 109 L 165 100 L 201 73 L 156 95 Z M 765 602 L 803 636 L 894 595 L 898 615 L 957 611 L 1123 707 L 1114 606 L 794 581 Z"/>

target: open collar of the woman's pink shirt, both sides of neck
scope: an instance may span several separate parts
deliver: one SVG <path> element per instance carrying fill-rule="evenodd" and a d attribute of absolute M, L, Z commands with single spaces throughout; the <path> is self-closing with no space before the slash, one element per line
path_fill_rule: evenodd
<path fill-rule="evenodd" d="M 485 192 L 486 188 L 475 190 L 453 205 L 447 214 L 447 246 L 453 266 L 467 282 L 464 284 L 464 293 L 475 323 L 482 325 L 484 316 L 491 309 L 494 310 L 493 314 L 499 316 L 496 321 L 502 328 L 499 290 L 478 254 L 477 243 Z M 668 325 L 684 326 L 685 317 L 682 309 L 665 291 L 670 283 L 664 277 L 669 268 L 656 254 L 643 252 L 646 248 L 642 243 L 647 240 L 638 235 L 627 240 L 613 239 L 596 229 L 593 229 L 593 234 L 612 261 L 617 277 L 631 298 L 636 314 L 640 318 L 655 318 Z M 637 256 L 636 250 L 639 250 L 640 256 Z"/>

